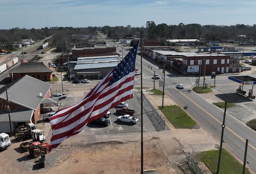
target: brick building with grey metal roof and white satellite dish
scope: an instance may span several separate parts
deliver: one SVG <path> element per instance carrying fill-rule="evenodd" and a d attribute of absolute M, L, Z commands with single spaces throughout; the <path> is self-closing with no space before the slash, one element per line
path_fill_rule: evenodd
<path fill-rule="evenodd" d="M 44 100 L 44 98 L 50 98 L 51 86 L 44 81 L 25 75 L 0 88 L 0 112 L 2 116 L 6 117 L 6 109 L 15 113 L 15 115 L 11 114 L 10 116 L 12 130 L 15 130 L 19 122 L 36 123 L 45 102 L 56 103 L 54 99 Z M 9 132 L 9 119 L 6 123 L 4 118 L 0 118 L 0 130 Z M 3 131 L 3 129 L 6 130 Z"/>

